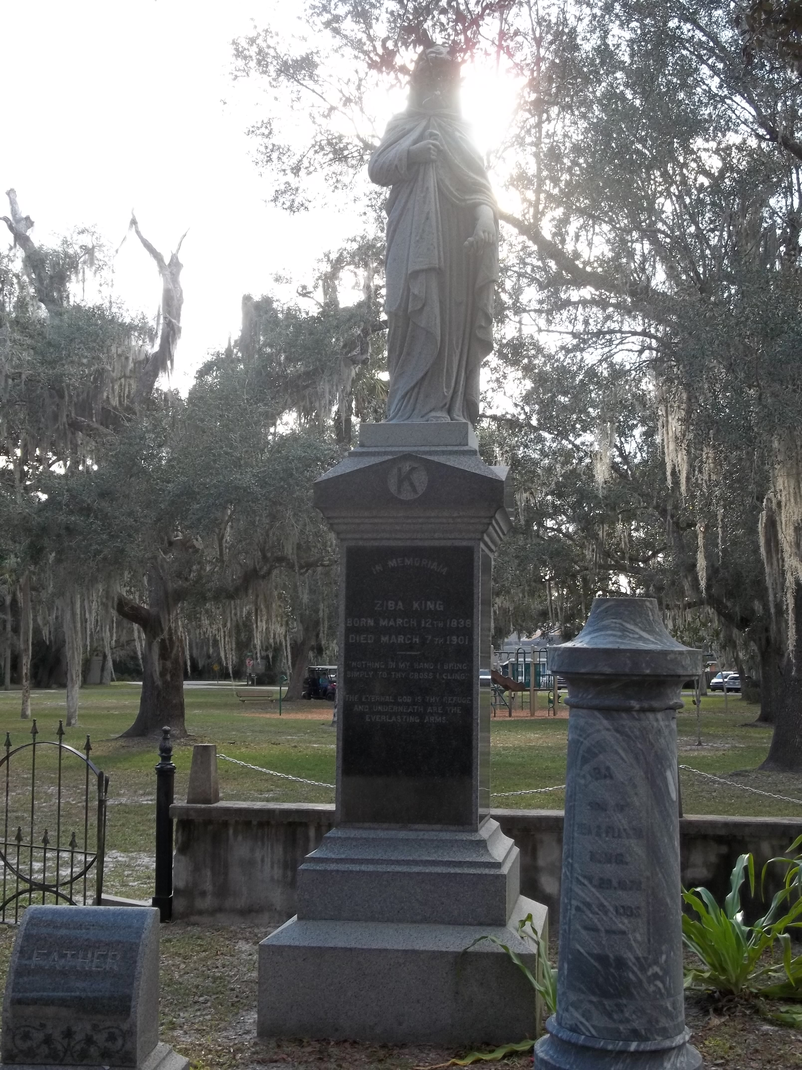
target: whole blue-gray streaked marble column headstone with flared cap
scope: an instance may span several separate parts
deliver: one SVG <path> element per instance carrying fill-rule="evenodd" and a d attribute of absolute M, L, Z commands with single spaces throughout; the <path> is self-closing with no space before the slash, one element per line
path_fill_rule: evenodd
<path fill-rule="evenodd" d="M 653 598 L 597 598 L 568 682 L 557 1013 L 536 1070 L 696 1070 L 682 989 L 676 710 L 699 651 Z"/>

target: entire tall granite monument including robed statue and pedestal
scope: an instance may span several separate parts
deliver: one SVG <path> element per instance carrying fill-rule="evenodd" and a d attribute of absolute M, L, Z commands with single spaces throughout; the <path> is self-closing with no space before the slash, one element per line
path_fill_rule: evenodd
<path fill-rule="evenodd" d="M 520 856 L 490 816 L 493 554 L 506 468 L 479 457 L 495 201 L 459 116 L 459 66 L 418 58 L 370 164 L 391 186 L 387 421 L 314 486 L 341 551 L 336 828 L 297 874 L 297 916 L 262 942 L 263 1036 L 503 1042 L 535 1036 Z"/>

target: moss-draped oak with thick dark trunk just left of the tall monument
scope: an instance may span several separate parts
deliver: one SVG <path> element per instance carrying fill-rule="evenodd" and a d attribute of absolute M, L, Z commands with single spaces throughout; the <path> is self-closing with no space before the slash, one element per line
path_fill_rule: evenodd
<path fill-rule="evenodd" d="M 91 562 L 115 582 L 118 612 L 144 636 L 127 734 L 184 732 L 192 644 L 231 669 L 246 642 L 283 651 L 291 693 L 310 649 L 330 645 L 337 560 L 311 484 L 339 456 L 353 411 L 381 395 L 373 316 L 370 299 L 309 312 L 244 297 L 240 338 L 199 369 L 186 400 L 154 394 L 102 463 L 50 480 L 43 541 L 59 546 L 62 567 Z"/>

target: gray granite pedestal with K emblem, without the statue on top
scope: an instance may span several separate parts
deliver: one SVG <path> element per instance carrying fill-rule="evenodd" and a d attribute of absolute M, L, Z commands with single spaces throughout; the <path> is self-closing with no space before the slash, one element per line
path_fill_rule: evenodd
<path fill-rule="evenodd" d="M 315 484 L 341 546 L 336 828 L 297 915 L 260 946 L 262 1036 L 479 1043 L 535 1036 L 519 852 L 490 809 L 490 584 L 507 470 L 468 424 L 363 425 Z M 468 950 L 469 949 L 469 950 Z"/>

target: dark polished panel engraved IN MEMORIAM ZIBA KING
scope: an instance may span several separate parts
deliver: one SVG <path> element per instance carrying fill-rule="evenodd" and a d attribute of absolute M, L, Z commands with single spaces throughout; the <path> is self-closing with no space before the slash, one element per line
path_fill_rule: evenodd
<path fill-rule="evenodd" d="M 345 551 L 341 820 L 469 824 L 474 550 Z"/>

